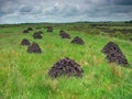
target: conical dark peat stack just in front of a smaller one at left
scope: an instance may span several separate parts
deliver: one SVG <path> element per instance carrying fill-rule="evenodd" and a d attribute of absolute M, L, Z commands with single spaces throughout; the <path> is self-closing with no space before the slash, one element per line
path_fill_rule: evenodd
<path fill-rule="evenodd" d="M 38 44 L 33 42 L 31 45 L 28 46 L 29 53 L 42 53 L 42 50 L 40 48 Z"/>

